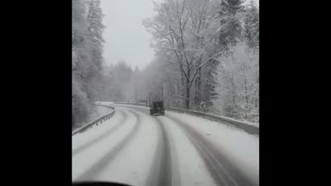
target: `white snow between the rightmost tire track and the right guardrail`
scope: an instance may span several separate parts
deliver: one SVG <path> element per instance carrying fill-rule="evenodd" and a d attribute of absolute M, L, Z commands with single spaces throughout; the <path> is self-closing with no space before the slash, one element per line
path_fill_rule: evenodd
<path fill-rule="evenodd" d="M 197 116 L 166 111 L 165 116 L 188 123 L 219 147 L 232 163 L 259 185 L 259 137 Z"/>

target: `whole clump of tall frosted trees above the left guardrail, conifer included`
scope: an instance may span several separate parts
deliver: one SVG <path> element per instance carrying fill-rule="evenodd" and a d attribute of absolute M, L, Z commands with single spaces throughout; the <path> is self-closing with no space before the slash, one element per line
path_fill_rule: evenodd
<path fill-rule="evenodd" d="M 99 1 L 86 2 L 72 0 L 72 120 L 76 123 L 88 121 L 92 114 L 103 60 Z"/>

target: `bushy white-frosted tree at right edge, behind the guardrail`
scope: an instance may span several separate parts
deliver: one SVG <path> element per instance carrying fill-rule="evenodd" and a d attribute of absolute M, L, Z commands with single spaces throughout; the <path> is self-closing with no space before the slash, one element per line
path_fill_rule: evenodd
<path fill-rule="evenodd" d="M 259 53 L 241 42 L 217 60 L 217 98 L 214 100 L 217 112 L 258 121 Z"/>

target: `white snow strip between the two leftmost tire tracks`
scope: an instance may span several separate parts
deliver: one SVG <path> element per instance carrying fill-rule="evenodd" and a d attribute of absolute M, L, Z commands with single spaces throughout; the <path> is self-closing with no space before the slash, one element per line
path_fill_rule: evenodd
<path fill-rule="evenodd" d="M 123 126 L 119 127 L 117 132 L 107 136 L 98 143 L 94 143 L 88 149 L 83 150 L 76 156 L 72 156 L 72 180 L 76 180 L 76 178 L 83 174 L 83 172 L 90 169 L 90 167 L 97 163 L 97 161 L 99 161 L 99 159 L 102 158 L 104 154 L 113 149 L 115 145 L 117 145 L 123 138 L 128 135 L 128 133 L 134 127 L 134 123 L 136 122 L 137 118 L 134 117 L 130 112 L 127 112 L 127 114 L 128 120 L 122 124 Z M 112 123 L 111 120 L 108 120 L 103 124 L 107 125 L 108 123 Z M 94 138 L 94 135 L 92 136 L 91 132 L 89 131 L 83 132 L 80 135 L 81 138 L 84 138 L 83 136 L 85 136 L 85 138 Z M 72 136 L 72 143 L 75 143 L 76 141 L 77 137 L 75 136 L 76 135 Z"/>

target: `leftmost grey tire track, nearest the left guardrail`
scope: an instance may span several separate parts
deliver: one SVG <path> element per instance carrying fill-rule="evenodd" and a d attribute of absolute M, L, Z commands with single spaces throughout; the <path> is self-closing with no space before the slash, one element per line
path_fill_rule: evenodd
<path fill-rule="evenodd" d="M 101 134 L 97 138 L 94 138 L 92 141 L 88 141 L 88 143 L 85 143 L 85 144 L 81 145 L 80 147 L 72 150 L 72 156 L 75 156 L 76 154 L 79 154 L 79 152 L 83 151 L 84 149 L 87 149 L 88 147 L 92 146 L 93 144 L 103 140 L 107 136 L 109 136 L 112 133 L 114 133 L 115 131 L 117 131 L 121 126 L 123 126 L 122 124 L 125 123 L 126 120 L 128 119 L 128 114 L 126 114 L 126 112 L 123 112 L 121 110 L 117 110 L 117 112 L 121 112 L 121 114 L 123 116 L 123 118 L 121 119 L 121 121 L 119 121 L 117 123 L 117 125 L 110 128 L 110 130 L 107 130 L 105 133 Z"/>

